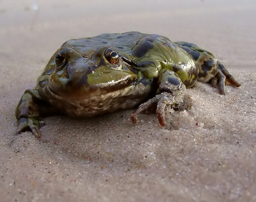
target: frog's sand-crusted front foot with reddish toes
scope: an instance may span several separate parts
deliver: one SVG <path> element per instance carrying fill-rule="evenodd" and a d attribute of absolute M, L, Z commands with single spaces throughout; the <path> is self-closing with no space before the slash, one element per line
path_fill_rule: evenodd
<path fill-rule="evenodd" d="M 134 123 L 134 124 L 137 123 L 136 115 L 138 115 L 142 111 L 146 111 L 146 110 L 156 106 L 158 122 L 160 123 L 161 126 L 165 126 L 165 109 L 166 109 L 166 107 L 167 106 L 177 106 L 181 102 L 183 102 L 183 91 L 181 89 L 175 93 L 162 92 L 161 94 L 158 94 L 154 98 L 151 98 L 147 102 L 141 104 L 138 107 L 138 109 L 136 109 L 131 114 L 132 123 Z"/>

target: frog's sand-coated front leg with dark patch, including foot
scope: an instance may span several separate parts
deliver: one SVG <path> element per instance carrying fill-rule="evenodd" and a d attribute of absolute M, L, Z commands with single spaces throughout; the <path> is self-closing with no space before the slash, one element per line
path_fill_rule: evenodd
<path fill-rule="evenodd" d="M 177 106 L 183 102 L 183 93 L 186 89 L 180 77 L 169 69 L 159 72 L 157 95 L 141 104 L 131 114 L 133 123 L 137 122 L 136 115 L 149 108 L 156 107 L 157 118 L 161 126 L 165 126 L 165 109 L 167 106 Z"/>

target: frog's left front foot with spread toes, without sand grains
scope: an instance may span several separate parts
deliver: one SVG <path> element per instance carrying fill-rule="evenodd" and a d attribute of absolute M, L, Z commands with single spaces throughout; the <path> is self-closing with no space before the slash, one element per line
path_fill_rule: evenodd
<path fill-rule="evenodd" d="M 39 121 L 38 119 L 35 119 L 35 118 L 26 118 L 26 117 L 20 118 L 18 121 L 18 128 L 15 132 L 15 135 L 18 135 L 21 132 L 30 130 L 31 133 L 36 138 L 40 138 L 41 134 L 39 132 L 39 128 L 43 125 L 45 125 L 44 121 Z"/>

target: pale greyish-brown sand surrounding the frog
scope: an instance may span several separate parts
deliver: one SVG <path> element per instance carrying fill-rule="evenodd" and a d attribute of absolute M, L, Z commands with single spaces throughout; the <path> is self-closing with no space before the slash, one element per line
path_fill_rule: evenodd
<path fill-rule="evenodd" d="M 0 201 L 256 201 L 255 1 L 52 2 L 0 1 Z M 20 96 L 63 42 L 125 31 L 196 43 L 242 85 L 197 83 L 166 127 L 127 110 L 14 136 Z"/>

